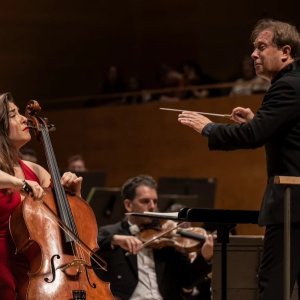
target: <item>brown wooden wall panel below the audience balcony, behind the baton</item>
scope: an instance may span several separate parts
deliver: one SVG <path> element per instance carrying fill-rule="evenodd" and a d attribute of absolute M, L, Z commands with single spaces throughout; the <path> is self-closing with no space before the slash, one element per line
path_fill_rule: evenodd
<path fill-rule="evenodd" d="M 261 98 L 156 102 L 44 114 L 57 127 L 51 136 L 61 168 L 69 155 L 81 153 L 90 169 L 106 171 L 109 186 L 120 186 L 141 173 L 156 179 L 215 177 L 218 208 L 259 209 L 266 182 L 264 150 L 209 151 L 204 137 L 177 122 L 177 113 L 159 107 L 230 113 L 237 105 L 256 110 Z M 239 233 L 261 233 L 252 227 L 240 226 Z"/>

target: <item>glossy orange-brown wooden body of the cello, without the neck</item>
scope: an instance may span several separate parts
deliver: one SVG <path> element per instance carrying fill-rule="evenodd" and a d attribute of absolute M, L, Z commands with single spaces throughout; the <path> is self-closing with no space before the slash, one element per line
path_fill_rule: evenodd
<path fill-rule="evenodd" d="M 79 262 L 63 242 L 62 230 L 45 212 L 57 213 L 51 189 L 43 201 L 24 199 L 11 216 L 10 230 L 18 253 L 29 261 L 28 281 L 19 287 L 20 300 L 114 299 L 109 283 L 91 268 L 92 253 L 81 253 Z M 78 235 L 96 250 L 97 225 L 90 206 L 81 198 L 68 196 Z M 77 246 L 75 246 L 77 247 Z"/>

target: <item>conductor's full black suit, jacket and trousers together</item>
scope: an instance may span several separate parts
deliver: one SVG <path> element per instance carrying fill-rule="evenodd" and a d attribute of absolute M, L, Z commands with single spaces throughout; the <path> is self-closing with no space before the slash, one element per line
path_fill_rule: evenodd
<path fill-rule="evenodd" d="M 300 64 L 294 62 L 272 80 L 255 117 L 242 125 L 214 124 L 208 134 L 211 150 L 250 149 L 265 145 L 268 182 L 259 223 L 267 225 L 260 270 L 263 300 L 282 300 L 283 194 L 273 177 L 300 176 Z M 300 281 L 300 188 L 291 192 L 291 281 Z M 278 292 L 278 288 L 280 292 Z"/>

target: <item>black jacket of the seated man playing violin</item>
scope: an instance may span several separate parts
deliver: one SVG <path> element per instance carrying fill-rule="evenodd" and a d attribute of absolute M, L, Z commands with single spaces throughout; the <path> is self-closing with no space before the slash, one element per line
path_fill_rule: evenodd
<path fill-rule="evenodd" d="M 106 260 L 108 271 L 103 272 L 95 267 L 95 272 L 100 278 L 110 282 L 115 296 L 127 300 L 138 283 L 137 256 L 126 256 L 125 250 L 120 247 L 112 249 L 111 239 L 114 234 L 130 235 L 128 222 L 100 229 L 98 254 Z M 182 299 L 182 287 L 192 287 L 211 270 L 210 264 L 201 256 L 191 264 L 185 255 L 170 247 L 154 250 L 154 260 L 158 287 L 166 300 Z"/>

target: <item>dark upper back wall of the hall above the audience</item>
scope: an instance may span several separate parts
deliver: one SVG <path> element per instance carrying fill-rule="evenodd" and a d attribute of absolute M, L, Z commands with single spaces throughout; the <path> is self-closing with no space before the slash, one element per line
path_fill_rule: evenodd
<path fill-rule="evenodd" d="M 262 17 L 299 29 L 300 1 L 7 1 L 0 7 L 0 92 L 18 103 L 99 92 L 111 64 L 144 87 L 162 62 L 200 63 L 218 81 L 238 72 Z"/>

